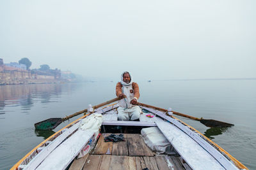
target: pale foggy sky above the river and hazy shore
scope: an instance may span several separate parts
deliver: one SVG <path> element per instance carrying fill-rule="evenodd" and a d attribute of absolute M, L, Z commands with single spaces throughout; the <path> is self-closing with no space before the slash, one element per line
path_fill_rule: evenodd
<path fill-rule="evenodd" d="M 0 1 L 0 58 L 135 80 L 256 77 L 255 0 Z"/>

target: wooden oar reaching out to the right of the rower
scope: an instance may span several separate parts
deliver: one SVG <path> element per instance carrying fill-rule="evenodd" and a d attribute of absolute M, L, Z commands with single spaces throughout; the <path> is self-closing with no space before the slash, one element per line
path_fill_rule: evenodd
<path fill-rule="evenodd" d="M 150 106 L 148 104 L 143 104 L 143 103 L 138 103 L 139 106 L 144 106 L 144 107 L 147 107 L 147 108 L 153 108 L 153 109 L 156 109 L 156 110 L 159 110 L 159 111 L 168 111 L 168 110 L 165 110 L 163 108 L 157 108 L 155 106 Z M 220 122 L 218 120 L 213 120 L 213 119 L 204 119 L 204 118 L 196 118 L 196 117 L 191 117 L 189 115 L 185 115 L 183 113 L 179 113 L 177 111 L 172 111 L 173 114 L 175 115 L 179 115 L 180 117 L 186 117 L 186 118 L 191 118 L 193 120 L 197 120 L 197 121 L 200 121 L 202 124 L 206 125 L 207 127 L 230 127 L 232 126 L 233 124 L 228 124 L 226 122 Z"/>

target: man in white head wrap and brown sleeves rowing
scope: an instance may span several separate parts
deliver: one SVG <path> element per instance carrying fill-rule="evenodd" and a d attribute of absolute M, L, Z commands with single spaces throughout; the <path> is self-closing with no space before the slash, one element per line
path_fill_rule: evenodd
<path fill-rule="evenodd" d="M 141 109 L 139 106 L 134 106 L 140 97 L 139 86 L 132 82 L 132 76 L 127 71 L 122 73 L 121 81 L 116 84 L 116 96 L 124 97 L 118 101 L 118 120 L 140 121 Z"/>

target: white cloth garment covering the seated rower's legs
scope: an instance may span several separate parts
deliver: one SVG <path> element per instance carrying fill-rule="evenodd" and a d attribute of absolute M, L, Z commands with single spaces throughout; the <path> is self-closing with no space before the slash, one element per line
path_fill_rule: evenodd
<path fill-rule="evenodd" d="M 118 120 L 136 120 L 140 118 L 141 108 L 139 106 L 134 106 L 132 108 L 122 108 L 121 106 L 119 106 L 117 108 L 117 112 Z"/>

